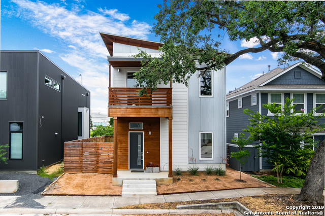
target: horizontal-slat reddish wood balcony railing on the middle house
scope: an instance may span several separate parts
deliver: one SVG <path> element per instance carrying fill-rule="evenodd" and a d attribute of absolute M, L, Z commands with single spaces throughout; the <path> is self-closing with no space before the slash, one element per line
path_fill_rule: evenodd
<path fill-rule="evenodd" d="M 139 96 L 140 88 L 108 88 L 110 106 L 171 106 L 172 88 L 148 90 L 148 95 Z"/>

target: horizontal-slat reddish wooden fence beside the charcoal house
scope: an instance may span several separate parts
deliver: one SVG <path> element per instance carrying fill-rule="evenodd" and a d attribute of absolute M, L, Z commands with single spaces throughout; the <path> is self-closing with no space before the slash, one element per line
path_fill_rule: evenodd
<path fill-rule="evenodd" d="M 64 172 L 113 173 L 113 136 L 64 142 Z M 90 142 L 89 142 L 90 141 Z"/>

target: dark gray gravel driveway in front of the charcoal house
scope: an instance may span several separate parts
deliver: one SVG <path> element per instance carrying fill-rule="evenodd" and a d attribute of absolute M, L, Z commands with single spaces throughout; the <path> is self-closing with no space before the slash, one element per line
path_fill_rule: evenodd
<path fill-rule="evenodd" d="M 1 194 L 1 196 L 20 196 L 16 201 L 6 208 L 44 208 L 45 206 L 36 202 L 34 199 L 40 199 L 41 193 L 45 187 L 52 181 L 47 177 L 41 177 L 35 174 L 0 174 L 0 180 L 17 180 L 19 189 L 15 193 Z"/>

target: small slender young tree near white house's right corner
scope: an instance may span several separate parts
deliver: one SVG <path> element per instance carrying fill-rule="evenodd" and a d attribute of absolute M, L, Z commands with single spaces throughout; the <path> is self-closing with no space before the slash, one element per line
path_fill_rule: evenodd
<path fill-rule="evenodd" d="M 242 179 L 242 165 L 245 164 L 247 157 L 250 156 L 250 152 L 248 150 L 244 150 L 244 147 L 247 145 L 248 140 L 245 139 L 245 134 L 240 133 L 239 137 L 234 137 L 234 139 L 232 139 L 232 142 L 234 142 L 239 147 L 239 151 L 232 152 L 231 157 L 234 157 L 239 161 L 240 179 Z"/>

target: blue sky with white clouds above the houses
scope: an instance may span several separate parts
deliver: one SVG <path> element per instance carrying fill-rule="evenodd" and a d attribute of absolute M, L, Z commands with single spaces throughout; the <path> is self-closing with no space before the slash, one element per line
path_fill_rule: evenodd
<path fill-rule="evenodd" d="M 90 90 L 91 113 L 107 114 L 109 53 L 99 32 L 159 42 L 150 29 L 162 3 L 1 0 L 0 49 L 40 50 Z M 231 42 L 224 37 L 221 48 L 234 53 L 257 46 L 254 41 Z M 226 66 L 226 91 L 267 73 L 268 65 L 271 70 L 278 67 L 280 55 L 269 51 L 241 55 Z"/>

